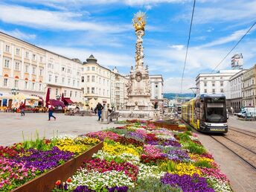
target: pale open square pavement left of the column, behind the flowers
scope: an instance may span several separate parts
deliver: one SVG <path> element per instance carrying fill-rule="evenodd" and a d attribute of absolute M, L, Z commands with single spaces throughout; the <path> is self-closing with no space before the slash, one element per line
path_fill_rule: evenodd
<path fill-rule="evenodd" d="M 80 135 L 107 127 L 118 127 L 118 124 L 100 124 L 97 116 L 68 116 L 54 113 L 57 121 L 48 121 L 47 113 L 27 113 L 21 117 L 18 113 L 0 112 L 0 145 L 10 145 L 22 141 L 22 132 L 25 139 L 39 132 L 39 136 L 51 138 L 54 132 L 58 135 Z M 120 125 L 119 125 L 120 126 Z"/>

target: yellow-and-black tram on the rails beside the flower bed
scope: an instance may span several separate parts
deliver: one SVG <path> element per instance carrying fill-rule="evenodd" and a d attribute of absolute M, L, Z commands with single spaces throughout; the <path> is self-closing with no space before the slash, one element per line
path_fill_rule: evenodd
<path fill-rule="evenodd" d="M 202 132 L 228 132 L 225 95 L 202 94 L 184 103 L 182 119 Z"/>

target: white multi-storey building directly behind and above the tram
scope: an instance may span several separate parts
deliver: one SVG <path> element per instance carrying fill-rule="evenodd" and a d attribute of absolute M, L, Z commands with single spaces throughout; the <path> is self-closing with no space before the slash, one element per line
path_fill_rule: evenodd
<path fill-rule="evenodd" d="M 196 94 L 224 94 L 226 99 L 231 98 L 229 80 L 240 69 L 220 70 L 217 73 L 202 73 L 196 77 Z"/>

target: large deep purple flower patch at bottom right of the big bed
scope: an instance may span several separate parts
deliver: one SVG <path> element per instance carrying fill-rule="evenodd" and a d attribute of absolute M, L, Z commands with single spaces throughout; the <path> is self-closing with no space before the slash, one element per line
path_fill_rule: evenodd
<path fill-rule="evenodd" d="M 198 174 L 193 174 L 193 176 L 179 176 L 176 174 L 166 173 L 161 178 L 161 182 L 172 187 L 179 186 L 184 192 L 214 192 L 214 189 L 208 187 L 206 179 L 200 177 Z"/>

